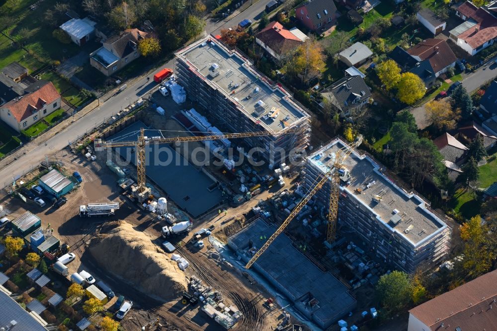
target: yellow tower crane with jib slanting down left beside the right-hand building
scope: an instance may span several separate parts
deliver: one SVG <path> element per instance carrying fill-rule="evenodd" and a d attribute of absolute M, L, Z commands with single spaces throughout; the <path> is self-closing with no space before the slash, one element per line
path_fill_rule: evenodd
<path fill-rule="evenodd" d="M 311 198 L 318 192 L 323 185 L 331 179 L 331 189 L 330 189 L 330 203 L 329 203 L 329 213 L 328 213 L 328 231 L 327 231 L 327 241 L 332 243 L 335 239 L 336 231 L 336 216 L 338 212 L 338 196 L 340 193 L 340 174 L 338 169 L 343 165 L 345 159 L 352 153 L 353 149 L 362 143 L 362 137 L 358 137 L 352 144 L 346 145 L 335 154 L 335 160 L 333 166 L 329 171 L 327 171 L 323 177 L 318 177 L 311 189 L 307 194 L 300 200 L 297 206 L 292 210 L 290 215 L 283 221 L 280 227 L 269 237 L 269 239 L 262 245 L 262 247 L 250 258 L 245 268 L 250 268 L 252 264 L 259 258 L 262 253 L 271 245 L 271 243 L 278 237 L 283 230 L 290 224 L 293 218 L 300 212 L 300 210 L 311 200 Z M 319 180 L 319 181 L 318 181 Z M 317 182 L 317 183 L 316 183 Z"/>

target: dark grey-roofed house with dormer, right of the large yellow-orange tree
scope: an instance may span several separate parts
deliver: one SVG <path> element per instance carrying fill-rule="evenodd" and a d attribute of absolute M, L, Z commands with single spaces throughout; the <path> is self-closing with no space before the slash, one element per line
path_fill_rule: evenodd
<path fill-rule="evenodd" d="M 351 110 L 362 107 L 368 102 L 371 90 L 361 76 L 355 75 L 345 76 L 332 83 L 321 92 L 321 95 L 327 98 L 342 116 L 347 116 Z"/>

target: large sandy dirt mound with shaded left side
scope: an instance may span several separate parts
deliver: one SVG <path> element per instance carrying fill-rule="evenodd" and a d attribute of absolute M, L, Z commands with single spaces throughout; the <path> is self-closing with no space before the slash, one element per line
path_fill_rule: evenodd
<path fill-rule="evenodd" d="M 89 251 L 106 271 L 166 301 L 186 290 L 186 277 L 177 263 L 150 237 L 126 222 L 91 241 Z"/>

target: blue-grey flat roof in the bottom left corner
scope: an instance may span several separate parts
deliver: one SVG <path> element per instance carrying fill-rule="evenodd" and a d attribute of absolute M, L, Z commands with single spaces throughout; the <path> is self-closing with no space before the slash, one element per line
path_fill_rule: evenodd
<path fill-rule="evenodd" d="M 8 326 L 10 322 L 15 321 L 17 324 L 13 330 L 47 331 L 35 317 L 10 298 L 3 288 L 0 289 L 0 307 L 1 326 Z M 40 317 L 38 318 L 41 320 Z"/>

